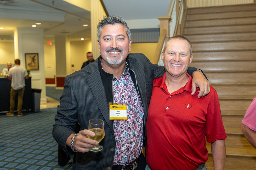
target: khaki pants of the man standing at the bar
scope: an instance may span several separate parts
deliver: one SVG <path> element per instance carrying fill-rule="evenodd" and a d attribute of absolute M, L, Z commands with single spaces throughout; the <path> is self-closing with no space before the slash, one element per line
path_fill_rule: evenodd
<path fill-rule="evenodd" d="M 25 87 L 19 89 L 19 90 L 14 90 L 11 87 L 11 92 L 10 92 L 10 114 L 13 114 L 14 112 L 14 106 L 15 106 L 15 98 L 16 95 L 18 93 L 18 106 L 17 106 L 17 111 L 18 111 L 18 115 L 22 115 L 22 105 L 23 105 L 23 94 L 25 91 Z"/>

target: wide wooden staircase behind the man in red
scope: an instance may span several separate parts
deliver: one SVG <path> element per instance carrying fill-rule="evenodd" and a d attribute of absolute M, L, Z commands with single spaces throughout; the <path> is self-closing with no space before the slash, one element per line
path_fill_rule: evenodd
<path fill-rule="evenodd" d="M 240 125 L 256 96 L 256 4 L 189 8 L 183 36 L 192 43 L 190 66 L 204 71 L 219 95 L 227 133 L 225 170 L 256 170 L 256 149 Z M 207 143 L 208 170 L 213 170 Z"/>

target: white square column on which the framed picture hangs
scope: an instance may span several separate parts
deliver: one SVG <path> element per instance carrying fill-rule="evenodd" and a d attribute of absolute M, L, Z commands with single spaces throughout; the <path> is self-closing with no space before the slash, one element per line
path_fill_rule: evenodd
<path fill-rule="evenodd" d="M 30 70 L 31 86 L 42 89 L 41 103 L 46 101 L 45 69 L 44 69 L 44 34 L 43 29 L 17 28 L 14 31 L 14 53 L 19 58 L 21 66 L 26 68 L 25 53 L 38 53 L 38 70 Z"/>

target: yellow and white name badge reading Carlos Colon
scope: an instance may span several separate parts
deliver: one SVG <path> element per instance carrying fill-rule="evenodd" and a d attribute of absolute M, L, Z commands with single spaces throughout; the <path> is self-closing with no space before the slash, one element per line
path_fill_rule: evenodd
<path fill-rule="evenodd" d="M 109 120 L 127 120 L 126 105 L 109 104 Z"/>

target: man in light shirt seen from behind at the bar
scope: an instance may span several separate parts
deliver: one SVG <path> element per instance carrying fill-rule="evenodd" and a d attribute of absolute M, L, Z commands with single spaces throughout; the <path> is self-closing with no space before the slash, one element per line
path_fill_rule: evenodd
<path fill-rule="evenodd" d="M 25 79 L 29 78 L 27 70 L 20 67 L 20 60 L 15 59 L 15 66 L 10 68 L 8 79 L 12 80 L 11 92 L 10 92 L 10 111 L 6 116 L 14 116 L 15 98 L 18 94 L 18 116 L 23 116 L 22 105 L 23 105 L 23 94 L 25 91 Z"/>

